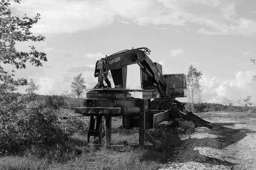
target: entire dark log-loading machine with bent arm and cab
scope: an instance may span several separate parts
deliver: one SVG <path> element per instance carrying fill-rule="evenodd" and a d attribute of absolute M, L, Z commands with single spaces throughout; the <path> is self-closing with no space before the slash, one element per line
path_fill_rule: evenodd
<path fill-rule="evenodd" d="M 145 138 L 157 145 L 147 133 L 163 121 L 174 119 L 191 120 L 195 126 L 207 126 L 207 121 L 185 109 L 185 104 L 176 97 L 187 97 L 185 74 L 162 75 L 162 65 L 153 63 L 148 57 L 151 51 L 146 48 L 123 50 L 96 62 L 94 77 L 97 85 L 86 94 L 84 106 L 75 108 L 75 113 L 90 116 L 88 142 L 101 143 L 105 136 L 105 145 L 111 145 L 111 118 L 122 116 L 122 128 L 139 128 L 139 144 L 144 145 Z M 141 75 L 142 90 L 126 89 L 127 65 L 138 64 Z M 108 80 L 111 72 L 114 88 Z M 106 83 L 104 85 L 103 81 Z M 133 98 L 129 92 L 142 91 L 141 98 Z M 102 117 L 106 128 L 102 131 Z"/>

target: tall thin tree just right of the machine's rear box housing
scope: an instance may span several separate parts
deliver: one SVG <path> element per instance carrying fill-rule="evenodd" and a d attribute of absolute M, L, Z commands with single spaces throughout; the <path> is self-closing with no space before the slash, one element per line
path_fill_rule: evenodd
<path fill-rule="evenodd" d="M 189 72 L 187 75 L 187 84 L 188 84 L 188 92 L 189 92 L 189 107 L 190 107 L 190 100 L 191 102 L 191 111 L 193 112 L 193 103 L 194 102 L 201 102 L 201 90 L 199 80 L 202 77 L 202 73 L 197 71 L 192 65 L 189 67 Z"/>

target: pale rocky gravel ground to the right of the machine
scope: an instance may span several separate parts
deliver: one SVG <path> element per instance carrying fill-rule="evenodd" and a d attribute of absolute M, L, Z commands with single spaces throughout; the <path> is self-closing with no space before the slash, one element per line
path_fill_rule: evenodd
<path fill-rule="evenodd" d="M 197 116 L 213 128 L 196 128 L 161 170 L 256 170 L 256 114 L 208 112 Z"/>

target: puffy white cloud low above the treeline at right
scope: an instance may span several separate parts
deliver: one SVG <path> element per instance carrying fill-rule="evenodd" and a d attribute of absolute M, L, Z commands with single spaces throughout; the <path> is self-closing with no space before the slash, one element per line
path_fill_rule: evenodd
<path fill-rule="evenodd" d="M 245 98 L 251 95 L 252 98 L 255 98 L 256 82 L 252 80 L 252 75 L 256 75 L 256 70 L 238 71 L 233 79 L 220 81 L 218 78 L 211 78 L 203 74 L 200 80 L 203 102 L 222 103 L 222 99 L 225 97 L 236 103 L 239 97 Z"/>

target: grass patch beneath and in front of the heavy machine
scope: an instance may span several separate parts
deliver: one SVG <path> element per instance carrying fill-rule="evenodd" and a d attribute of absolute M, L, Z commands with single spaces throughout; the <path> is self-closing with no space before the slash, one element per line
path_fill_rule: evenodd
<path fill-rule="evenodd" d="M 70 114 L 71 113 L 71 114 Z M 180 123 L 177 127 L 161 127 L 150 130 L 151 136 L 162 146 L 161 149 L 96 149 L 88 146 L 86 127 L 88 122 L 84 117 L 75 115 L 72 110 L 61 109 L 65 117 L 81 118 L 84 122 L 83 132 L 74 132 L 67 141 L 56 145 L 31 145 L 19 153 L 2 155 L 0 157 L 0 170 L 82 170 L 82 169 L 145 169 L 153 170 L 163 167 L 163 163 L 172 154 L 173 147 L 180 143 L 181 134 L 192 132 L 191 123 Z M 68 120 L 68 119 L 67 119 Z M 138 144 L 138 129 L 119 129 L 121 119 L 112 119 L 112 143 Z M 189 125 L 189 126 L 188 126 Z M 93 139 L 91 138 L 90 141 Z M 103 140 L 104 141 L 104 140 Z M 104 142 L 103 142 L 104 143 Z M 149 142 L 147 142 L 149 144 Z"/>

